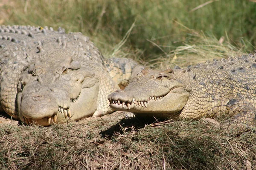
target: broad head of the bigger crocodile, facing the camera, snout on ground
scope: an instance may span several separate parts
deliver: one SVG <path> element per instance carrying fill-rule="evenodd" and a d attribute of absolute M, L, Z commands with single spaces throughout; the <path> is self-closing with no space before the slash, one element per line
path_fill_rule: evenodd
<path fill-rule="evenodd" d="M 58 56 L 45 52 L 21 75 L 17 108 L 23 122 L 47 126 L 91 116 L 96 111 L 99 79 L 71 56 L 61 51 Z"/>

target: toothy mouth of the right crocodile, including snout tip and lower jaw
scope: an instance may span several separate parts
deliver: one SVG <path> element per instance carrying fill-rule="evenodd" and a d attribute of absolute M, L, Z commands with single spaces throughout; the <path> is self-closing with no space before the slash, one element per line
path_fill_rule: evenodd
<path fill-rule="evenodd" d="M 109 106 L 117 111 L 133 113 L 177 113 L 186 104 L 189 93 L 181 87 L 175 87 L 162 96 L 149 96 L 146 100 L 138 101 L 136 97 L 124 99 L 130 93 L 115 91 L 108 96 Z M 141 97 L 143 98 L 143 97 Z"/>

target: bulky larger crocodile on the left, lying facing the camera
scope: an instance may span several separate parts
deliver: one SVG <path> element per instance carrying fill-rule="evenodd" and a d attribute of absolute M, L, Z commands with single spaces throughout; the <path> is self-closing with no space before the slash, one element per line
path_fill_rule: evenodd
<path fill-rule="evenodd" d="M 124 88 L 141 69 L 132 59 L 105 59 L 81 33 L 0 26 L 0 111 L 26 124 L 111 113 L 108 94 Z"/>

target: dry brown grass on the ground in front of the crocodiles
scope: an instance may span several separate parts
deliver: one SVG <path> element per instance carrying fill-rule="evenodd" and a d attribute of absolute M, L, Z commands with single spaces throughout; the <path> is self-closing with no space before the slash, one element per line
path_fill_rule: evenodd
<path fill-rule="evenodd" d="M 256 133 L 232 137 L 203 121 L 129 118 L 51 127 L 3 124 L 0 137 L 3 170 L 256 167 Z"/>

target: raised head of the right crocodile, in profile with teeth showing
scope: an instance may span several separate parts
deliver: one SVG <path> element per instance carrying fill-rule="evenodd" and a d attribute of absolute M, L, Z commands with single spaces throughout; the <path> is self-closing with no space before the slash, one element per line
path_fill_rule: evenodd
<path fill-rule="evenodd" d="M 169 118 L 180 113 L 188 98 L 186 83 L 177 79 L 172 69 L 154 71 L 150 68 L 143 69 L 124 90 L 108 96 L 114 110 Z"/>

